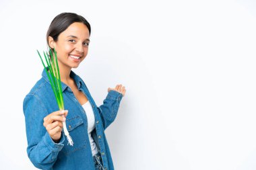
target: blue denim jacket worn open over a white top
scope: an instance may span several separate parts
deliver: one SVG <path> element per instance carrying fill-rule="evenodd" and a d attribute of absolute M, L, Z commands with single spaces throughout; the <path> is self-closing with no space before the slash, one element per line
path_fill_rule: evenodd
<path fill-rule="evenodd" d="M 73 71 L 70 76 L 92 105 L 96 126 L 92 131 L 92 138 L 102 155 L 103 166 L 105 169 L 114 169 L 104 130 L 115 120 L 123 95 L 111 90 L 103 104 L 97 107 L 84 81 Z M 26 95 L 23 103 L 28 157 L 39 169 L 94 170 L 86 113 L 71 88 L 62 82 L 61 85 L 65 110 L 69 111 L 66 118 L 67 130 L 69 130 L 74 144 L 73 146 L 67 144 L 64 132 L 61 134 L 60 142 L 55 143 L 43 126 L 44 117 L 59 110 L 49 79 L 46 72 L 43 71 L 42 78 Z"/>

